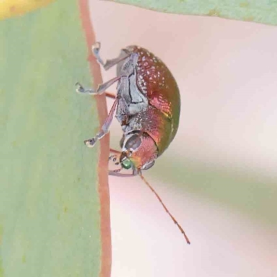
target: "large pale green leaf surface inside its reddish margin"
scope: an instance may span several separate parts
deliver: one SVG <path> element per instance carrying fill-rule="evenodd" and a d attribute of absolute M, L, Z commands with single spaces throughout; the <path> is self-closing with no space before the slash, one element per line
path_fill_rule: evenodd
<path fill-rule="evenodd" d="M 96 103 L 77 1 L 0 25 L 0 277 L 99 276 Z"/>

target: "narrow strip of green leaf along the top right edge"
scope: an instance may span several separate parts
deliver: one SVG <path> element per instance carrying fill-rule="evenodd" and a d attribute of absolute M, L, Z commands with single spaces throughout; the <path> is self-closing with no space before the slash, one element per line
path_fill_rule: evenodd
<path fill-rule="evenodd" d="M 159 12 L 208 15 L 277 25 L 276 0 L 109 0 Z"/>

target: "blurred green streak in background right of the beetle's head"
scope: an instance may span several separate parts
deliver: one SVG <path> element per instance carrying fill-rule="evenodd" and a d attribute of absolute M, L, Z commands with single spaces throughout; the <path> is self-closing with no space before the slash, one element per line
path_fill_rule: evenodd
<path fill-rule="evenodd" d="M 152 174 L 181 193 L 210 199 L 252 220 L 277 228 L 276 177 L 266 177 L 250 169 L 238 172 L 227 166 L 223 168 L 223 165 L 207 166 L 204 162 L 193 162 L 184 157 L 175 159 L 179 163 L 159 160 Z"/>

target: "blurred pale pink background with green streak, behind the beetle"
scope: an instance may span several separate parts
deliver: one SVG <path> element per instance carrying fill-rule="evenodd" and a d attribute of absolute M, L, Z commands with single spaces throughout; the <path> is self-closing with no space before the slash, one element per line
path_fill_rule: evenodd
<path fill-rule="evenodd" d="M 277 27 L 97 0 L 91 17 L 103 59 L 148 48 L 182 101 L 177 137 L 145 177 L 192 244 L 139 178 L 111 177 L 111 276 L 277 276 Z M 115 148 L 120 136 L 114 120 Z"/>

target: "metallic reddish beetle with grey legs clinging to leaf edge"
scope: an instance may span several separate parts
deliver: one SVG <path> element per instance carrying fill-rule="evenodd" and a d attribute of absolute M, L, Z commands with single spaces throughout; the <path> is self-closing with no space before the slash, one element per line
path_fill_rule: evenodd
<path fill-rule="evenodd" d="M 92 46 L 93 55 L 105 70 L 117 67 L 116 77 L 98 85 L 97 89 L 87 89 L 79 82 L 76 83 L 78 93 L 100 95 L 117 82 L 114 104 L 109 111 L 100 132 L 84 143 L 92 148 L 96 142 L 109 132 L 114 114 L 123 130 L 120 140 L 121 152 L 119 162 L 121 168 L 109 170 L 109 175 L 120 177 L 140 175 L 159 201 L 166 209 L 172 220 L 177 224 L 181 233 L 189 240 L 184 230 L 164 206 L 161 198 L 141 174 L 148 170 L 156 159 L 163 154 L 175 138 L 179 126 L 181 109 L 180 93 L 172 73 L 159 57 L 140 46 L 127 46 L 120 51 L 118 57 L 103 62 L 99 55 L 100 42 Z M 116 160 L 112 155 L 110 159 Z M 129 175 L 120 173 L 123 168 L 132 169 Z"/>

